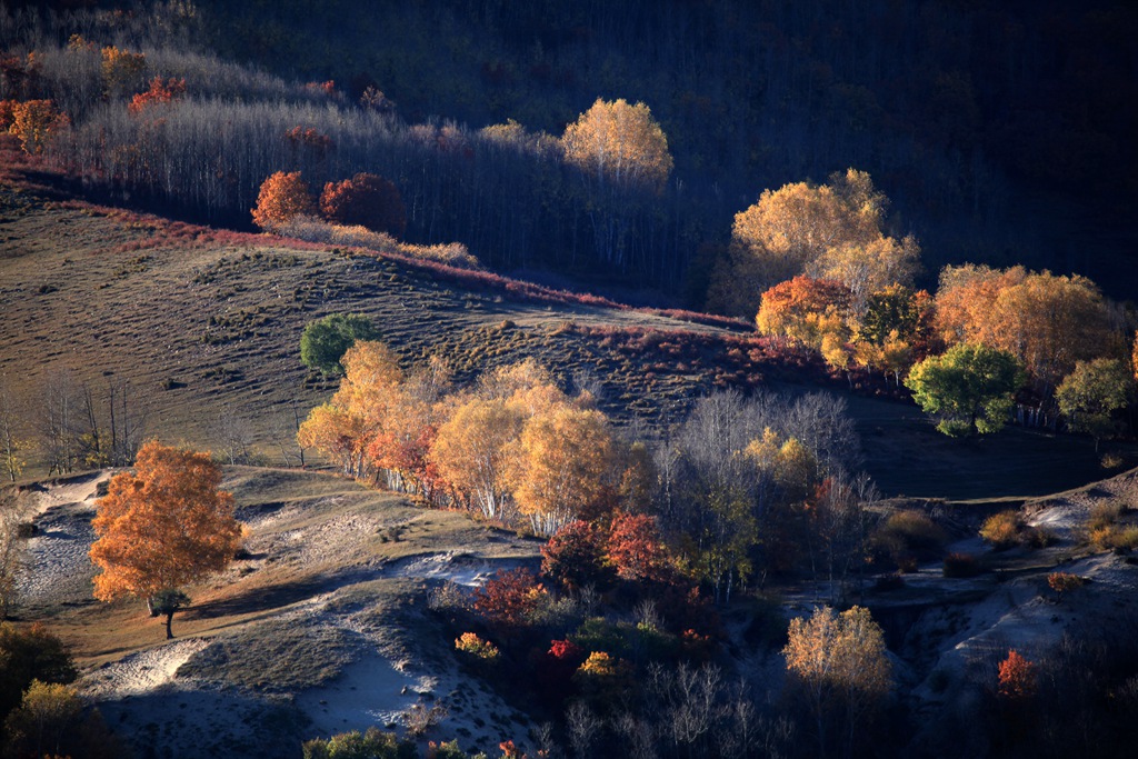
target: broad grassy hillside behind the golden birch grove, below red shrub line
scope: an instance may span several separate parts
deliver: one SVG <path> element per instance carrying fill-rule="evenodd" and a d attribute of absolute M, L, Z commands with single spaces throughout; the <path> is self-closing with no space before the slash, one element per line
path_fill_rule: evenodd
<path fill-rule="evenodd" d="M 675 423 L 721 387 L 847 385 L 816 357 L 737 329 L 572 303 L 477 272 L 46 201 L 44 191 L 0 192 L 0 374 L 23 401 L 30 437 L 38 406 L 67 377 L 100 406 L 109 385 L 127 381 L 149 435 L 215 451 L 237 438 L 283 463 L 281 446 L 296 454 L 294 404 L 303 418 L 335 389 L 300 364 L 300 332 L 335 312 L 371 316 L 407 365 L 442 355 L 460 382 L 528 356 L 566 387 L 591 373 L 602 407 L 622 423 Z M 908 403 L 847 397 L 887 494 L 1026 497 L 1098 477 L 1089 440 L 1013 429 L 962 445 Z"/>

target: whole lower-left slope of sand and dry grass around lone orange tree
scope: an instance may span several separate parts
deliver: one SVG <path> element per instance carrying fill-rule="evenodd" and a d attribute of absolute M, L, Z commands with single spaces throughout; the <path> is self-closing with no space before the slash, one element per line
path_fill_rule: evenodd
<path fill-rule="evenodd" d="M 535 566 L 536 542 L 328 476 L 229 469 L 222 487 L 248 527 L 247 558 L 190 589 L 165 642 L 143 603 L 91 599 L 89 523 L 106 478 L 38 494 L 20 614 L 73 646 L 80 690 L 142 756 L 291 756 L 303 740 L 402 723 L 436 698 L 451 717 L 432 737 L 489 750 L 523 732 L 459 670 L 424 602 L 443 580 Z"/>

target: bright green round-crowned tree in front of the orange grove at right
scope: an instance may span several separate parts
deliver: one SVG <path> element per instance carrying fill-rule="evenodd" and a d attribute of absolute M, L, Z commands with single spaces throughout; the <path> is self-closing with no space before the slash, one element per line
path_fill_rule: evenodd
<path fill-rule="evenodd" d="M 960 343 L 913 366 L 905 386 L 937 429 L 951 437 L 999 431 L 1025 374 L 1012 354 Z"/>

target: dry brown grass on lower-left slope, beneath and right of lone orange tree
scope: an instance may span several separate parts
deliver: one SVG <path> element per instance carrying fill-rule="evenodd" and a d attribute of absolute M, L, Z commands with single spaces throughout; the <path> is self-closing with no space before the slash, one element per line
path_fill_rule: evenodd
<path fill-rule="evenodd" d="M 360 611 L 361 624 L 389 625 L 394 643 L 405 634 L 395 624 L 399 617 L 376 619 L 368 610 L 414 605 L 409 596 L 421 594 L 420 584 L 390 571 L 399 560 L 446 554 L 536 561 L 539 555 L 536 542 L 328 475 L 239 467 L 226 470 L 223 487 L 234 494 L 238 517 L 249 526 L 249 558 L 190 588 L 193 603 L 175 616 L 174 634 L 216 638 L 190 669 L 232 685 L 291 691 L 328 679 L 337 662 L 351 659 L 355 636 L 316 626 L 303 613 L 312 604 L 337 603 L 339 612 Z M 387 538 L 391 525 L 402 526 L 398 541 Z M 139 601 L 86 600 L 20 613 L 50 618 L 85 666 L 164 640 L 160 620 Z"/>

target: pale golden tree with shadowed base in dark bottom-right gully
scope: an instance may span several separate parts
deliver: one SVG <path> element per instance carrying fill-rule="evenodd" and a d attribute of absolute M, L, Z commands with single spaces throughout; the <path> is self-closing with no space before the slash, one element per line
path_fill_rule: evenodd
<path fill-rule="evenodd" d="M 858 731 L 880 711 L 891 687 L 881 626 L 868 609 L 838 614 L 818 608 L 791 620 L 783 649 L 795 695 L 814 719 L 818 756 L 850 756 Z"/>

